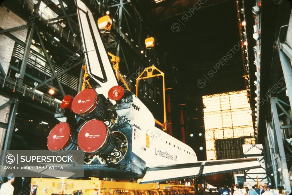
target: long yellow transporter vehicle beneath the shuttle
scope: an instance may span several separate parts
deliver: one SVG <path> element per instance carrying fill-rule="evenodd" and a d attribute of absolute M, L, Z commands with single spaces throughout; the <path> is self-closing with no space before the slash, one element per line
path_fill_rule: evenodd
<path fill-rule="evenodd" d="M 130 181 L 32 178 L 31 193 L 36 188 L 36 195 L 168 195 L 194 194 L 194 186 L 176 184 L 139 184 Z M 33 194 L 33 193 L 32 193 Z"/>

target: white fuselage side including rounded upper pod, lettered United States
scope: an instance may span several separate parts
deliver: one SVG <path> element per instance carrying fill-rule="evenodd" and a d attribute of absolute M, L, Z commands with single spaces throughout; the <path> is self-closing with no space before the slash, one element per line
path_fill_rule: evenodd
<path fill-rule="evenodd" d="M 144 160 L 147 167 L 197 162 L 194 150 L 156 128 L 150 110 L 134 94 L 132 97 L 130 108 L 117 110 L 119 117 L 129 119 L 133 127 L 132 152 Z M 133 108 L 132 104 L 140 109 Z"/>

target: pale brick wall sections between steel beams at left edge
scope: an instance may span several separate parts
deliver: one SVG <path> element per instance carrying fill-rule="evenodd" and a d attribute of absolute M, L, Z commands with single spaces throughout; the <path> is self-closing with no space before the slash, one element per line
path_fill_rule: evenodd
<path fill-rule="evenodd" d="M 15 13 L 8 10 L 6 7 L 1 6 L 0 7 L 0 27 L 3 29 L 9 29 L 13 27 L 18 27 L 22 25 L 26 25 L 27 22 L 25 20 L 22 20 L 20 17 L 18 17 Z M 27 36 L 27 27 L 22 27 L 18 30 L 15 30 L 13 32 L 10 32 L 13 36 L 17 37 L 23 42 L 26 42 L 26 36 Z M 11 55 L 14 47 L 14 41 L 5 36 L 4 34 L 0 34 L 0 63 L 6 72 L 8 74 L 8 67 L 9 62 L 11 60 Z M 0 91 L 1 91 L 0 86 Z M 1 94 L 1 93 L 0 93 Z M 9 98 L 4 97 L 0 95 L 0 105 L 6 103 L 9 101 Z M 3 123 L 7 123 L 9 119 L 9 112 L 10 112 L 10 106 L 0 110 L 0 121 Z M 6 129 L 0 128 L 0 149 L 2 149 L 3 142 L 5 140 L 5 133 Z"/>

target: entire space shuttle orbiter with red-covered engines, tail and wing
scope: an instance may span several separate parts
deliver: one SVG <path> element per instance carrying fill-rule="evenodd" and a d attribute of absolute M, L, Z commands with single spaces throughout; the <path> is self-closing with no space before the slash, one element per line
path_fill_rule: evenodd
<path fill-rule="evenodd" d="M 85 175 L 140 183 L 261 167 L 257 158 L 197 161 L 190 146 L 156 128 L 149 109 L 118 85 L 92 12 L 81 0 L 76 5 L 86 68 L 98 87 L 64 98 L 62 109 L 72 109 L 80 125 L 56 125 L 48 149 L 82 149 Z"/>

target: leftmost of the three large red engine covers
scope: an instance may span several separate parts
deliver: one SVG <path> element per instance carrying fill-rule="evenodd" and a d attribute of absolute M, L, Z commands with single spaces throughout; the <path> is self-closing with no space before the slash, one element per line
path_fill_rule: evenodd
<path fill-rule="evenodd" d="M 48 136 L 47 146 L 49 150 L 60 150 L 67 146 L 70 136 L 70 126 L 61 122 L 56 125 Z"/>

